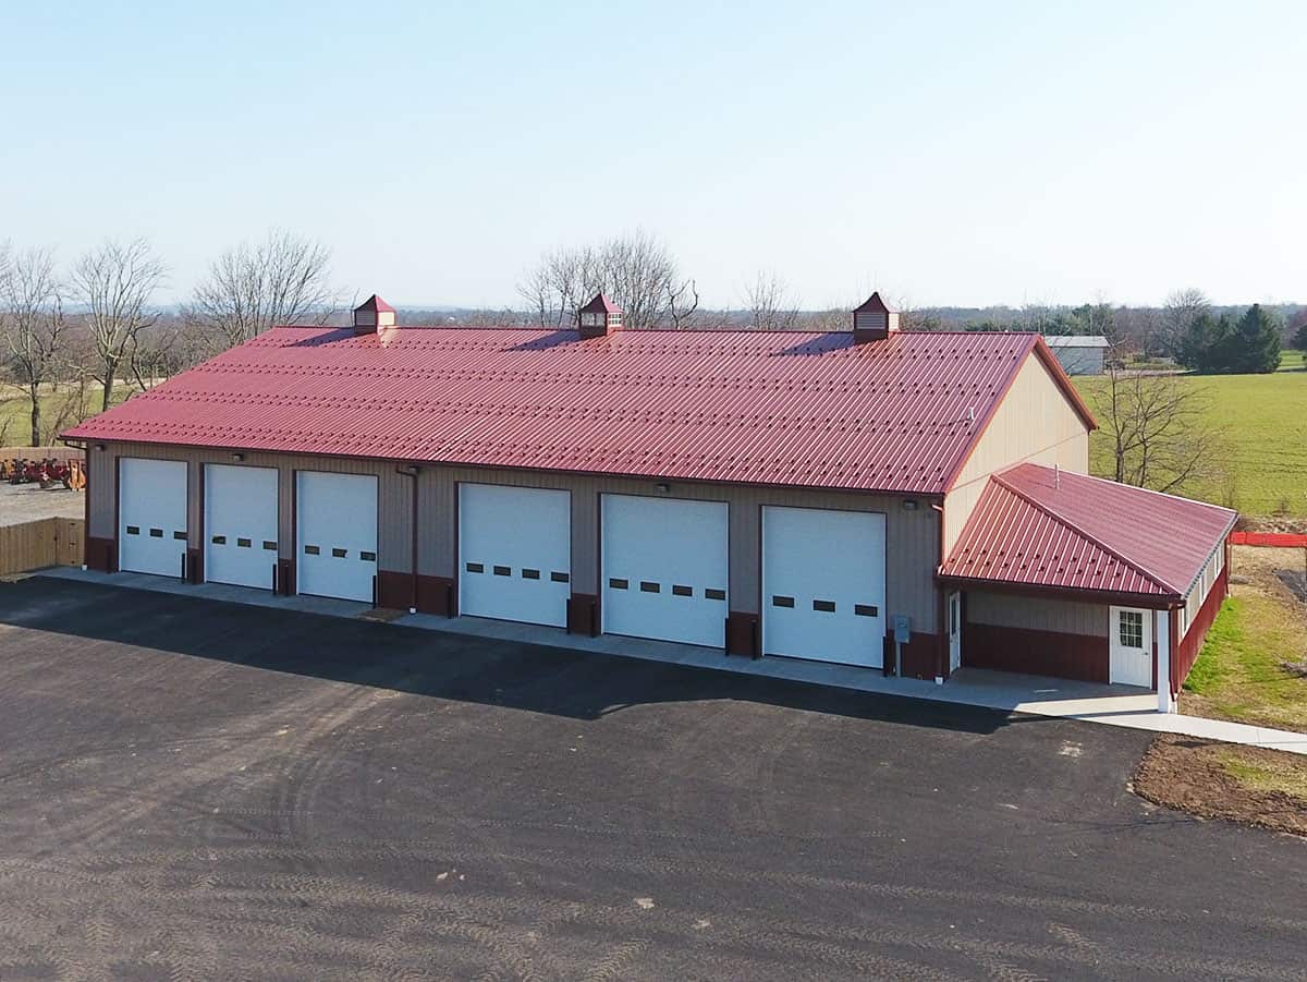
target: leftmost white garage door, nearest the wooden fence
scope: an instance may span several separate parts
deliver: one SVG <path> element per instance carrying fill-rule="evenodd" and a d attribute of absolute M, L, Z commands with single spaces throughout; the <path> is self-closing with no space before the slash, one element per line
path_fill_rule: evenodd
<path fill-rule="evenodd" d="M 186 463 L 118 462 L 118 567 L 182 575 L 186 556 Z"/>

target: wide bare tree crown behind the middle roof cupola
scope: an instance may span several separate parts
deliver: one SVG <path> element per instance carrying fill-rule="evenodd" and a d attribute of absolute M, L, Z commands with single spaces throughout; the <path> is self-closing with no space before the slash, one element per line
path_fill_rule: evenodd
<path fill-rule="evenodd" d="M 634 231 L 599 246 L 545 254 L 518 285 L 541 327 L 570 327 L 578 309 L 603 292 L 622 309 L 629 328 L 689 327 L 699 305 L 667 246 Z"/>

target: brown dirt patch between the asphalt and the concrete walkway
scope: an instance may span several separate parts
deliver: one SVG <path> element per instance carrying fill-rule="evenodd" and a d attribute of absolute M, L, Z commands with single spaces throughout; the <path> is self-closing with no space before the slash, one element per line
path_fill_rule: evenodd
<path fill-rule="evenodd" d="M 1307 837 L 1307 757 L 1295 753 L 1163 734 L 1134 771 L 1134 792 L 1200 819 Z"/>

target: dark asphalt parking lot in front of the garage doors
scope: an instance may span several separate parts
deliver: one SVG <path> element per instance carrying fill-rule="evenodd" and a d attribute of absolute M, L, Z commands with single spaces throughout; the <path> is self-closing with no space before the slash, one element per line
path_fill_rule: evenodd
<path fill-rule="evenodd" d="M 0 583 L 0 979 L 1303 978 L 1307 843 L 1148 739 Z"/>

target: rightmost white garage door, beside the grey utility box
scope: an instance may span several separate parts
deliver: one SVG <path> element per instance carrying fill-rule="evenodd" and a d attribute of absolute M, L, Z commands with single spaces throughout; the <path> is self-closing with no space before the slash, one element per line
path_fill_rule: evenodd
<path fill-rule="evenodd" d="M 880 668 L 885 515 L 762 510 L 762 645 L 769 655 Z"/>

